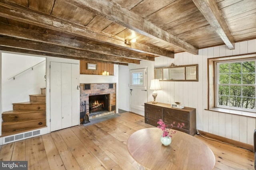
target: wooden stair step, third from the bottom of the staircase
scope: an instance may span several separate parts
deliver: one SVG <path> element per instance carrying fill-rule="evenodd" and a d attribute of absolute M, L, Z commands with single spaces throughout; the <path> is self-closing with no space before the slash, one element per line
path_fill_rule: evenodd
<path fill-rule="evenodd" d="M 12 104 L 13 110 L 46 110 L 46 104 L 44 102 L 21 102 Z"/>

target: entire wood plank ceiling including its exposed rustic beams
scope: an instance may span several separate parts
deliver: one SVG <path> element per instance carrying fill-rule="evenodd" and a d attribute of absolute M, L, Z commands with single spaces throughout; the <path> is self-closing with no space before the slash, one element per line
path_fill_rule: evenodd
<path fill-rule="evenodd" d="M 256 0 L 0 0 L 4 51 L 127 65 L 250 39 Z"/>

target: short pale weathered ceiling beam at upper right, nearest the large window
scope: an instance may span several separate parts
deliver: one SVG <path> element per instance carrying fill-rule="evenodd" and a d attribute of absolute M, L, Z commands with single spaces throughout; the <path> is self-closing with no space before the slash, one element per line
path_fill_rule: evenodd
<path fill-rule="evenodd" d="M 235 49 L 234 37 L 231 35 L 215 0 L 193 0 L 204 18 L 212 25 L 229 49 Z"/>

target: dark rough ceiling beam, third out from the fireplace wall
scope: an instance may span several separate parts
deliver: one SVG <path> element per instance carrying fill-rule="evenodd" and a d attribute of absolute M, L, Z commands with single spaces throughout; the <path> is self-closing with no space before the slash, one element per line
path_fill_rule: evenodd
<path fill-rule="evenodd" d="M 4 23 L 0 23 L 0 35 L 6 35 L 9 37 L 15 37 L 20 39 L 28 39 L 28 40 L 38 41 L 42 43 L 50 43 L 50 44 L 60 45 L 64 47 L 86 50 L 94 53 L 113 55 L 116 57 L 126 57 L 130 59 L 140 59 L 140 60 L 149 60 L 149 61 L 155 60 L 154 57 L 132 53 L 132 51 L 110 49 L 108 47 L 103 47 L 101 45 L 89 44 L 83 41 L 78 41 L 75 39 L 70 39 L 67 37 L 59 36 L 59 35 L 43 33 L 36 30 L 29 30 L 26 28 L 7 25 Z"/>

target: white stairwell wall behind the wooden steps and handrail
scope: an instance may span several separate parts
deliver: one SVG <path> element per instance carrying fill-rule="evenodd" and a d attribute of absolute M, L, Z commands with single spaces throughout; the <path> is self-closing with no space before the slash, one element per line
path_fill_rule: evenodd
<path fill-rule="evenodd" d="M 2 112 L 12 110 L 12 104 L 17 102 L 29 102 L 30 94 L 41 94 L 41 88 L 46 87 L 45 57 L 32 57 L 2 52 Z M 44 61 L 40 63 L 41 61 Z M 37 66 L 34 66 L 35 64 Z M 33 70 L 16 76 L 15 80 L 10 78 L 27 68 L 34 66 Z M 1 113 L 2 113 L 1 112 Z"/>

